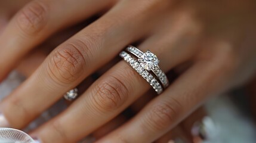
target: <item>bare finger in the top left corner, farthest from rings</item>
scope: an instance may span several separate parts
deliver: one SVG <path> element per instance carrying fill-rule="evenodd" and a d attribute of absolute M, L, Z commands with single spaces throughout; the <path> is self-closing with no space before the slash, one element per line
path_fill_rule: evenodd
<path fill-rule="evenodd" d="M 110 7 L 112 3 L 113 1 L 39 0 L 27 4 L 13 17 L 0 36 L 0 81 L 21 57 L 48 36 Z"/>

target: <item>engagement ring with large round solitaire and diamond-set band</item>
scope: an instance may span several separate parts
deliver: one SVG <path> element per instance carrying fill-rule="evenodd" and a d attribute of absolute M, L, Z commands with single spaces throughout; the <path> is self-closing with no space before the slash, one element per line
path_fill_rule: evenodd
<path fill-rule="evenodd" d="M 153 54 L 149 50 L 147 52 L 142 52 L 140 51 L 140 49 L 131 45 L 127 47 L 127 51 L 131 52 L 131 54 L 135 55 L 135 57 L 138 57 L 138 61 L 144 69 L 146 69 L 147 71 L 153 71 L 153 73 L 158 77 L 164 88 L 167 88 L 169 86 L 168 78 L 164 71 L 162 71 L 158 66 L 159 60 L 155 54 Z"/>

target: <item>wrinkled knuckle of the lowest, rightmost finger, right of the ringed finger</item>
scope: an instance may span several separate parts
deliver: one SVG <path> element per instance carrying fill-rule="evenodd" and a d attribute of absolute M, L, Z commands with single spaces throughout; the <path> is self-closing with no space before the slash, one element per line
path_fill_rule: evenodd
<path fill-rule="evenodd" d="M 168 128 L 175 122 L 180 110 L 181 104 L 176 100 L 154 105 L 147 116 L 145 128 L 153 131 Z"/>

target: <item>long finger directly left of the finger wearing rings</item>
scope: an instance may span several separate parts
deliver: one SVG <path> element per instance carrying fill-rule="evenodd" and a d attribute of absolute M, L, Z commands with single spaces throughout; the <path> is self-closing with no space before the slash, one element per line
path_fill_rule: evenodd
<path fill-rule="evenodd" d="M 58 46 L 42 66 L 2 102 L 1 110 L 12 127 L 24 127 L 65 92 L 115 57 L 125 45 L 150 32 L 151 26 L 142 23 L 166 5 L 152 1 L 152 5 L 159 7 L 152 11 L 143 9 L 145 7 L 140 2 L 144 1 L 136 1 L 141 6 L 131 13 L 129 6 L 134 3 L 124 2 Z M 140 14 L 141 10 L 149 13 Z M 129 17 L 124 18 L 124 15 Z M 129 23 L 132 20 L 136 22 Z"/>

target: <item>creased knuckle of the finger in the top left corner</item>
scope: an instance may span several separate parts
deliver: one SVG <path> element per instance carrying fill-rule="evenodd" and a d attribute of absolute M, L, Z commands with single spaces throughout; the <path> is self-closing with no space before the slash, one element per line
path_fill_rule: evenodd
<path fill-rule="evenodd" d="M 35 35 L 47 23 L 47 5 L 41 1 L 33 1 L 17 15 L 17 24 L 25 35 Z"/>

